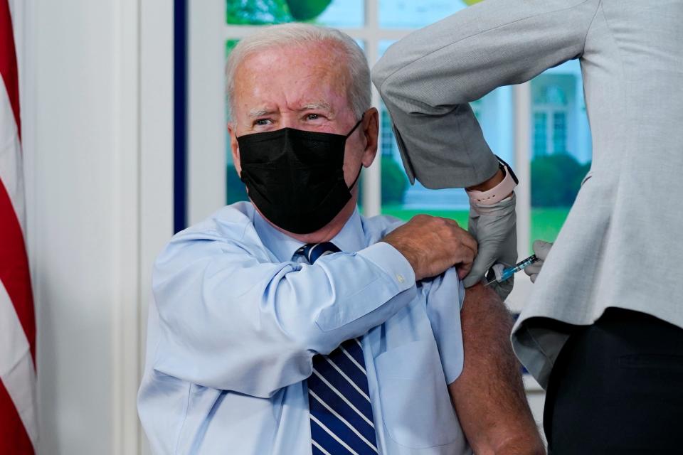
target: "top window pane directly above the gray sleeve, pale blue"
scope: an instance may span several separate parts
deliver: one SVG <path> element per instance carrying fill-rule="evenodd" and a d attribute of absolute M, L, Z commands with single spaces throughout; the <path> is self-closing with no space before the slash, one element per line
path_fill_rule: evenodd
<path fill-rule="evenodd" d="M 472 0 L 379 0 L 381 28 L 420 28 L 467 7 Z"/>

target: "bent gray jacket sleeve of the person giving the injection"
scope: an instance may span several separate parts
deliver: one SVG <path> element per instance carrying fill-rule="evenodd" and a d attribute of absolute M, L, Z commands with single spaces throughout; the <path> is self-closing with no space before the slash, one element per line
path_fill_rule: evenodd
<path fill-rule="evenodd" d="M 471 101 L 583 53 L 600 0 L 485 0 L 395 43 L 372 80 L 411 182 L 467 187 L 497 160 Z"/>

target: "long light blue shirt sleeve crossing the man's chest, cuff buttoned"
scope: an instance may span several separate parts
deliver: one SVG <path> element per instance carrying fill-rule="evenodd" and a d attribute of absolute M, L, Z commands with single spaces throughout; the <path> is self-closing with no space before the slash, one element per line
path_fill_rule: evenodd
<path fill-rule="evenodd" d="M 154 369 L 256 397 L 305 380 L 312 357 L 361 336 L 415 296 L 413 269 L 383 242 L 314 265 L 273 263 L 216 233 L 181 233 L 154 266 Z"/>

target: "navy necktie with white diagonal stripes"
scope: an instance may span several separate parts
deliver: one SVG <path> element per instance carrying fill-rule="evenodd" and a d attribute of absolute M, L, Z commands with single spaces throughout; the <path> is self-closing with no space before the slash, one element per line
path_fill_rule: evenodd
<path fill-rule="evenodd" d="M 339 252 L 331 242 L 308 244 L 297 251 L 313 264 L 319 257 Z M 344 341 L 329 355 L 313 358 L 308 378 L 313 455 L 376 455 L 363 348 L 358 338 Z"/>

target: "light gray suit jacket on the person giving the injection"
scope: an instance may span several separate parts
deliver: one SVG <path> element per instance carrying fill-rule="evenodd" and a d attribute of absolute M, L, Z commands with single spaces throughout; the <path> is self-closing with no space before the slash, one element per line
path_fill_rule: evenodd
<path fill-rule="evenodd" d="M 683 327 L 682 24 L 683 0 L 485 0 L 373 70 L 408 175 L 443 188 L 495 172 L 467 102 L 581 61 L 593 166 L 512 334 L 541 385 L 609 306 Z"/>

